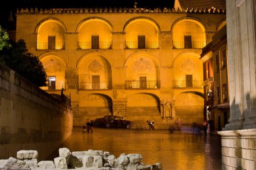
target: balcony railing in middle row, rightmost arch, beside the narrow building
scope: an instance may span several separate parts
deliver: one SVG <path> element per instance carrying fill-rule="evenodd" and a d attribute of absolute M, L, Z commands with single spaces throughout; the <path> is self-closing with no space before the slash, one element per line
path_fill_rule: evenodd
<path fill-rule="evenodd" d="M 201 89 L 203 88 L 203 81 L 202 80 L 193 80 L 193 81 L 172 81 L 172 88 L 173 89 Z"/>

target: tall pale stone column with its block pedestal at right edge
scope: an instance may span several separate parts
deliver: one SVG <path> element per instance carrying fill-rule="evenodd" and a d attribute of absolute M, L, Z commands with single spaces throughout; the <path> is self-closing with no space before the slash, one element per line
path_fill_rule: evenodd
<path fill-rule="evenodd" d="M 230 118 L 222 136 L 222 169 L 256 168 L 255 0 L 226 0 Z"/>

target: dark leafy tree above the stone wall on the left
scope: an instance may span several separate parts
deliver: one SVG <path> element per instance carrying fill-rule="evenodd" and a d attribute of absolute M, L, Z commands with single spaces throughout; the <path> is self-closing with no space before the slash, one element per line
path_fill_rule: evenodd
<path fill-rule="evenodd" d="M 9 40 L 7 32 L 3 29 L 0 29 L 0 62 L 38 87 L 46 85 L 46 72 L 42 62 L 28 52 L 24 40 Z"/>

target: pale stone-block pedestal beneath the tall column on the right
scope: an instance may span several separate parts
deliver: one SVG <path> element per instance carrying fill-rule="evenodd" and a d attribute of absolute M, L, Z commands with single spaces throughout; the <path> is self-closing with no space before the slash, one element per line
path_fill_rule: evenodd
<path fill-rule="evenodd" d="M 222 169 L 255 169 L 256 130 L 226 130 L 222 135 Z"/>

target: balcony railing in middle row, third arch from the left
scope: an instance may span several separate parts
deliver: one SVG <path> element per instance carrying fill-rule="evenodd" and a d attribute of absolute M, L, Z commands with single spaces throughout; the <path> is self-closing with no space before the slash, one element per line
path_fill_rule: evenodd
<path fill-rule="evenodd" d="M 125 89 L 160 89 L 160 81 L 125 81 Z"/>

